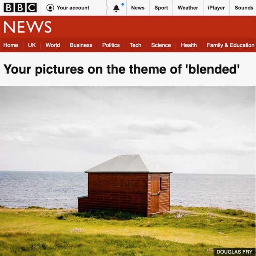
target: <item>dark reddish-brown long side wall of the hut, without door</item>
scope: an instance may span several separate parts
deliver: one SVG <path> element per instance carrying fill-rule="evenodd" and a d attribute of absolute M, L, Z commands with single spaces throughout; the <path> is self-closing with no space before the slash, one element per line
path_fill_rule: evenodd
<path fill-rule="evenodd" d="M 78 211 L 116 209 L 147 216 L 148 173 L 88 173 L 88 197 Z"/>

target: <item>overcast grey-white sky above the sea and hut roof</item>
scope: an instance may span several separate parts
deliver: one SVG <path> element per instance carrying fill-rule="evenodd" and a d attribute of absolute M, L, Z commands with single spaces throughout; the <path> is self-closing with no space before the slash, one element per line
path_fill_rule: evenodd
<path fill-rule="evenodd" d="M 1 86 L 1 170 L 255 174 L 255 87 Z"/>

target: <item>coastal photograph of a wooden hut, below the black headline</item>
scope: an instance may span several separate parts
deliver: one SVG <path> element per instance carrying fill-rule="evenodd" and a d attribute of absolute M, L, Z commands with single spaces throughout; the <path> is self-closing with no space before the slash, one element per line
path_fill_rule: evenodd
<path fill-rule="evenodd" d="M 255 248 L 255 86 L 0 86 L 0 124 L 0 255 Z"/>

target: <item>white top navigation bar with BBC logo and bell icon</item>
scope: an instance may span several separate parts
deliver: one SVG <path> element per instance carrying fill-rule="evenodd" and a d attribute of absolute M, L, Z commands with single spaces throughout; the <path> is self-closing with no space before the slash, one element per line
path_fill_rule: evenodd
<path fill-rule="evenodd" d="M 255 0 L 13 0 L 1 16 L 256 16 Z"/>

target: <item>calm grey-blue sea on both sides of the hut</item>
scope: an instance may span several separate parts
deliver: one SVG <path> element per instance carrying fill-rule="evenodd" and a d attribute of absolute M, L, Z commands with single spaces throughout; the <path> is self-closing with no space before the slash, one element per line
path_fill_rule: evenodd
<path fill-rule="evenodd" d="M 76 208 L 87 193 L 84 172 L 0 172 L 0 204 Z M 255 175 L 172 174 L 171 204 L 255 212 Z"/>

